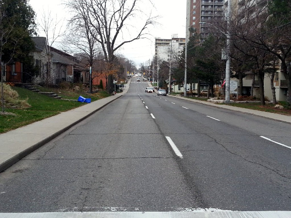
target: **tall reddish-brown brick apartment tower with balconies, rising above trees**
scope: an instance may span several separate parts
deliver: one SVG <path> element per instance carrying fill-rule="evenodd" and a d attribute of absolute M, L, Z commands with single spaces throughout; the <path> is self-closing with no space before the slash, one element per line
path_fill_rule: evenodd
<path fill-rule="evenodd" d="M 224 18 L 224 0 L 187 0 L 187 23 L 201 39 L 207 38 L 209 26 Z M 189 31 L 187 31 L 189 37 Z"/>

